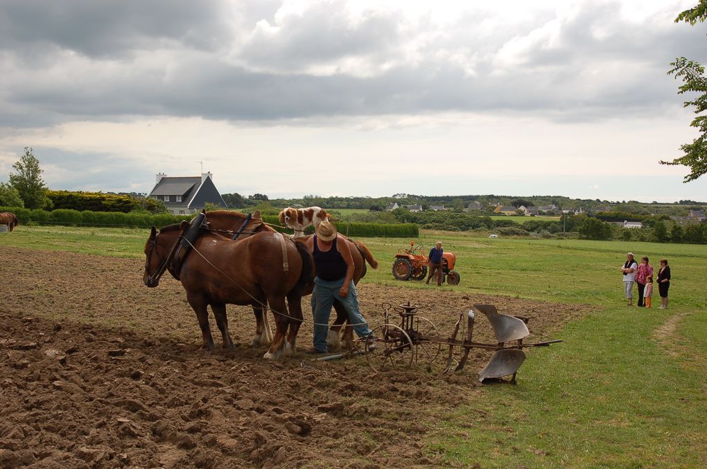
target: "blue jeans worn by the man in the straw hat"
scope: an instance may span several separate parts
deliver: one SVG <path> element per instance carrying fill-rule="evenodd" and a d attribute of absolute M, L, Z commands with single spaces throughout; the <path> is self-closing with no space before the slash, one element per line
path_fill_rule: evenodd
<path fill-rule="evenodd" d="M 345 279 L 345 278 L 344 278 Z M 312 315 L 314 316 L 314 348 L 320 352 L 327 352 L 327 332 L 329 332 L 329 315 L 332 313 L 334 300 L 341 301 L 349 315 L 349 323 L 358 337 L 370 335 L 366 320 L 363 319 L 361 311 L 358 310 L 358 293 L 354 282 L 349 284 L 349 294 L 343 298 L 339 296 L 341 285 L 344 279 L 322 280 L 319 277 L 314 279 L 314 291 L 312 291 Z"/>

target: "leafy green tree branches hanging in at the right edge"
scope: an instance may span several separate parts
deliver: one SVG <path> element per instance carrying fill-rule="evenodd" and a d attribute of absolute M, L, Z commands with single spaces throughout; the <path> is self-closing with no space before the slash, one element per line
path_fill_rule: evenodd
<path fill-rule="evenodd" d="M 675 23 L 684 21 L 695 25 L 698 21 L 702 23 L 706 19 L 707 0 L 699 0 L 697 6 L 680 13 L 675 18 Z M 699 129 L 700 136 L 694 139 L 691 144 L 680 146 L 680 150 L 684 153 L 683 156 L 672 161 L 660 161 L 660 164 L 687 166 L 690 168 L 690 173 L 684 177 L 683 182 L 689 183 L 689 181 L 696 180 L 707 173 L 707 116 L 700 115 L 702 112 L 707 111 L 707 77 L 704 76 L 705 69 L 703 66 L 685 57 L 675 59 L 675 62 L 671 62 L 670 65 L 673 68 L 667 73 L 674 75 L 675 79 L 682 79 L 683 84 L 679 86 L 677 93 L 698 93 L 694 100 L 685 101 L 684 107 L 694 106 L 694 112 L 698 116 L 694 118 L 690 125 Z"/>

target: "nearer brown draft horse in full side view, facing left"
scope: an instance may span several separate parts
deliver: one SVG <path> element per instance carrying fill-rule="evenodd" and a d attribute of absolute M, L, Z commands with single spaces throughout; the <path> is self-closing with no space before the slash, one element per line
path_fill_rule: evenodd
<path fill-rule="evenodd" d="M 165 226 L 160 231 L 152 228 L 145 244 L 143 281 L 147 286 L 158 286 L 161 273 L 173 258 L 173 248 L 188 226 L 185 221 L 181 226 Z M 283 354 L 293 354 L 302 319 L 301 292 L 313 278 L 312 257 L 305 246 L 286 241 L 283 247 L 279 233 L 257 233 L 234 242 L 211 231 L 202 233 L 192 246 L 179 272 L 170 270 L 170 273 L 187 291 L 187 301 L 199 320 L 204 347 L 214 349 L 207 306 L 211 305 L 214 312 L 223 347 L 231 349 L 226 304 L 252 305 L 258 319 L 265 318 L 262 308 L 267 304 L 274 313 L 276 333 L 264 358 L 279 359 Z M 267 328 L 264 322 L 258 327 Z"/>

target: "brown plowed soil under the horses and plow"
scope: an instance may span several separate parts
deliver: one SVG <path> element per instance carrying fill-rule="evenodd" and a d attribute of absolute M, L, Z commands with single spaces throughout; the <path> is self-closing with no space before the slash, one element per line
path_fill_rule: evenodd
<path fill-rule="evenodd" d="M 209 353 L 181 284 L 163 277 L 146 288 L 142 260 L 1 246 L 0 259 L 1 467 L 437 465 L 425 444 L 442 431 L 444 412 L 473 408 L 483 392 L 477 373 L 487 352 L 474 350 L 452 376 L 415 365 L 373 374 L 362 355 L 315 361 L 299 352 L 272 362 L 262 359 L 266 347 L 249 345 L 250 308 L 229 306 L 238 345 Z M 381 303 L 411 301 L 443 335 L 473 303 L 531 316 L 531 340 L 586 313 L 403 283 L 358 291 L 370 323 L 380 321 Z M 308 298 L 303 308 L 311 319 Z M 485 318 L 477 323 L 474 337 L 493 342 Z M 298 349 L 311 340 L 305 325 Z"/>

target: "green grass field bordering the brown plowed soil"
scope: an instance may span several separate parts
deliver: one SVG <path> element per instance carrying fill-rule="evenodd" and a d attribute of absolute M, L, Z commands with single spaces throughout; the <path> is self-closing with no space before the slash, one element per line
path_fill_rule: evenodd
<path fill-rule="evenodd" d="M 143 258 L 146 230 L 20 226 L 0 244 Z M 703 467 L 707 453 L 707 245 L 480 238 L 423 231 L 457 255 L 461 284 L 443 289 L 595 306 L 558 331 L 563 344 L 523 366 L 518 386 L 486 386 L 474 409 L 452 408 L 425 441 L 468 467 Z M 409 239 L 362 239 L 380 262 L 363 282 L 397 282 Z M 627 251 L 672 267 L 670 308 L 628 308 Z M 657 290 L 657 289 L 656 289 Z M 660 304 L 657 292 L 655 306 Z M 670 327 L 665 327 L 665 326 Z M 662 332 L 657 332 L 662 328 Z M 656 338 L 658 337 L 658 338 Z M 479 412 L 483 409 L 483 412 Z"/>

